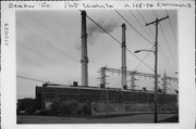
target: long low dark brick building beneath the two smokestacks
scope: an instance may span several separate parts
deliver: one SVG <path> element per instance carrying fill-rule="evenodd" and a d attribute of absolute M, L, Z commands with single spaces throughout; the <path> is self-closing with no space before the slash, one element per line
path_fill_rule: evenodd
<path fill-rule="evenodd" d="M 56 100 L 59 100 L 61 103 L 75 101 L 77 104 L 87 104 L 89 106 L 100 103 L 112 104 L 112 106 L 114 106 L 113 104 L 128 104 L 130 106 L 143 104 L 151 106 L 151 108 L 154 107 L 152 91 L 57 85 L 36 87 L 36 102 L 38 102 L 40 108 L 51 108 L 51 104 Z M 161 108 L 164 107 L 177 111 L 177 94 L 164 94 L 159 92 L 158 104 L 161 105 Z"/>

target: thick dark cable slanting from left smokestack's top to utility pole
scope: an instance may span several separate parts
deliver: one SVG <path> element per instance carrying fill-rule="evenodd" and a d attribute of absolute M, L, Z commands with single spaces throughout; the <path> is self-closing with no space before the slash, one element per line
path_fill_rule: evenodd
<path fill-rule="evenodd" d="M 109 34 L 105 28 L 102 28 L 98 23 L 96 23 L 93 18 L 90 18 L 88 15 L 86 15 L 86 17 L 88 17 L 94 24 L 96 24 L 99 28 L 101 28 L 106 34 L 108 34 L 114 41 L 117 41 L 119 44 L 122 44 L 117 38 L 114 38 L 111 34 Z M 138 56 L 136 56 L 131 50 L 128 50 L 126 48 L 126 50 L 134 55 L 137 60 L 139 60 L 140 62 L 143 62 Z M 143 62 L 149 69 L 151 69 L 154 72 L 154 69 L 147 65 L 145 62 Z"/>

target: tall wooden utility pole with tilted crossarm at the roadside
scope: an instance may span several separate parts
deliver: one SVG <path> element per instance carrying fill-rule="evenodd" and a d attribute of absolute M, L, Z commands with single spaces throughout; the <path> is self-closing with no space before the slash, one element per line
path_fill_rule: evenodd
<path fill-rule="evenodd" d="M 146 26 L 148 26 L 148 25 L 151 25 L 151 24 L 154 24 L 154 25 L 156 25 L 156 41 L 155 41 L 155 119 L 154 119 L 154 121 L 155 122 L 157 122 L 157 89 L 158 89 L 158 77 L 157 77 L 157 64 L 158 64 L 158 24 L 161 22 L 161 21 L 163 21 L 163 20 L 166 20 L 166 18 L 168 18 L 169 16 L 166 16 L 166 17 L 163 17 L 163 18 L 160 18 L 160 20 L 156 20 L 156 21 L 154 21 L 154 22 L 151 22 L 151 23 L 147 23 L 146 24 Z"/>

